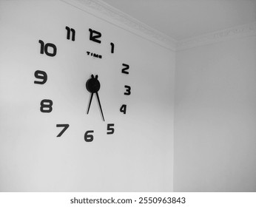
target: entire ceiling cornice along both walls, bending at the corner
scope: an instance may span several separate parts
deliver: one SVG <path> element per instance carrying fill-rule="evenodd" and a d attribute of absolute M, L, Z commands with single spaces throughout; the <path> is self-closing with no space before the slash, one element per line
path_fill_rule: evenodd
<path fill-rule="evenodd" d="M 181 41 L 176 41 L 174 38 L 160 33 L 158 30 L 149 27 L 141 21 L 138 21 L 132 16 L 121 12 L 115 7 L 106 4 L 101 0 L 60 0 L 67 4 L 77 7 L 90 15 L 101 18 L 104 21 L 121 27 L 124 30 L 139 35 L 155 44 L 165 47 L 172 51 L 188 50 L 193 47 L 200 47 L 206 44 L 213 44 L 219 41 L 226 41 L 231 38 L 256 35 L 256 21 L 251 24 L 243 24 L 238 27 L 228 28 L 226 30 L 216 31 L 199 35 L 195 38 L 188 38 Z M 252 0 L 250 0 L 252 1 Z M 256 5 L 256 4 L 255 4 Z M 256 18 L 256 17 L 255 17 Z"/>

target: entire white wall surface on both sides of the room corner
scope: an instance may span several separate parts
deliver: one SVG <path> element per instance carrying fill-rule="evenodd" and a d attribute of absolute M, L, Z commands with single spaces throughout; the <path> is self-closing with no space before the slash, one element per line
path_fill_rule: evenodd
<path fill-rule="evenodd" d="M 175 52 L 96 16 L 63 1 L 0 1 L 0 191 L 256 191 L 255 36 L 177 52 L 174 75 Z M 100 47 L 90 27 L 103 34 Z M 38 39 L 58 55 L 39 54 Z M 33 84 L 36 69 L 53 81 Z M 84 115 L 95 72 L 112 137 L 95 103 Z M 40 112 L 42 98 L 54 113 Z M 57 123 L 70 123 L 61 139 Z M 91 129 L 95 140 L 85 143 Z"/>

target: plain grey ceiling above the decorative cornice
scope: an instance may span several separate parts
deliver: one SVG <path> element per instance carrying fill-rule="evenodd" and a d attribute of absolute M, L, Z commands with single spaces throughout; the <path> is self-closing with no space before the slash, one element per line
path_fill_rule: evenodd
<path fill-rule="evenodd" d="M 102 0 L 177 41 L 256 21 L 256 0 Z"/>

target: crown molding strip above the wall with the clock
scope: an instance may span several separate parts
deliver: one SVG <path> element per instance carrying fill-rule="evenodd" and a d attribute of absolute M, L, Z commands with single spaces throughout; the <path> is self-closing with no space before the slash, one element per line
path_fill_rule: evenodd
<path fill-rule="evenodd" d="M 138 21 L 135 18 L 121 12 L 115 7 L 106 4 L 101 0 L 61 0 L 67 4 L 73 5 L 80 10 L 90 13 L 92 16 L 108 21 L 118 27 L 128 30 L 131 33 L 146 38 L 149 41 L 155 42 L 169 50 L 176 50 L 177 41 L 174 38 L 160 33 L 158 30 L 149 27 L 148 25 Z"/>

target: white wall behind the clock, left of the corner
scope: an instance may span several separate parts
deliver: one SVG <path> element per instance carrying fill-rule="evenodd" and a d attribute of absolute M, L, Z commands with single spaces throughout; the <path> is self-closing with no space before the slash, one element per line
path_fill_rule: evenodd
<path fill-rule="evenodd" d="M 1 1 L 0 18 L 0 191 L 172 191 L 175 52 L 62 1 Z M 57 55 L 41 55 L 39 39 L 56 44 Z M 38 69 L 48 73 L 44 85 L 33 83 Z M 95 102 L 86 115 L 91 74 L 101 80 L 105 123 Z M 40 112 L 44 98 L 53 100 L 50 114 Z M 61 138 L 57 123 L 70 124 Z"/>

